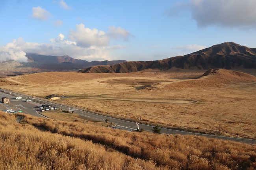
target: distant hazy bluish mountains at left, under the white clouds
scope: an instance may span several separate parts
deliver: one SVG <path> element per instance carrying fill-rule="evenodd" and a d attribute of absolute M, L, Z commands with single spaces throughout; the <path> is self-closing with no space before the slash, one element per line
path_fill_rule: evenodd
<path fill-rule="evenodd" d="M 26 53 L 28 62 L 6 61 L 0 63 L 1 75 L 17 75 L 23 73 L 35 73 L 43 71 L 70 71 L 88 68 L 98 65 L 113 65 L 126 60 L 105 60 L 86 61 L 64 56 L 40 55 L 36 53 Z"/>

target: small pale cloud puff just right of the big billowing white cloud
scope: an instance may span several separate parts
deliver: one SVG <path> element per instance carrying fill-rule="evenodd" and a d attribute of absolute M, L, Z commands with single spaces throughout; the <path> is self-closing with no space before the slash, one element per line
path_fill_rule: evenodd
<path fill-rule="evenodd" d="M 122 38 L 124 40 L 128 40 L 128 38 L 131 36 L 131 33 L 121 27 L 109 26 L 108 36 L 111 38 Z"/>

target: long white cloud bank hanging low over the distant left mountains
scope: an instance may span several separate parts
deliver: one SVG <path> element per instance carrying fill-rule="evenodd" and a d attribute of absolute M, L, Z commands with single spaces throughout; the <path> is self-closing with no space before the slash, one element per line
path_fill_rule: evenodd
<path fill-rule="evenodd" d="M 118 31 L 117 31 L 118 32 Z M 122 36 L 122 30 L 118 33 Z M 109 52 L 121 49 L 122 46 L 109 46 L 112 37 L 104 31 L 90 29 L 83 24 L 76 25 L 75 30 L 70 30 L 65 37 L 62 33 L 56 38 L 51 38 L 48 43 L 25 42 L 23 38 L 13 40 L 13 42 L 0 46 L 0 61 L 16 60 L 26 62 L 25 52 L 39 53 L 41 55 L 69 55 L 73 58 L 83 60 L 111 60 Z"/>

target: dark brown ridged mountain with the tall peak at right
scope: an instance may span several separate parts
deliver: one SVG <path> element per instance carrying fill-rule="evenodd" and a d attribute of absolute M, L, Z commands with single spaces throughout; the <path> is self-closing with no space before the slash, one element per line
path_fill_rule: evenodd
<path fill-rule="evenodd" d="M 256 48 L 247 48 L 234 42 L 224 42 L 184 56 L 156 61 L 123 62 L 106 67 L 93 66 L 79 72 L 128 73 L 143 69 L 168 70 L 173 67 L 181 69 L 256 69 Z"/>

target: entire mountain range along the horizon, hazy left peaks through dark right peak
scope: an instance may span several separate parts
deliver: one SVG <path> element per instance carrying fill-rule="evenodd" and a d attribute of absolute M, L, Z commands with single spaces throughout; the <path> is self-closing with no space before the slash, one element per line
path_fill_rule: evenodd
<path fill-rule="evenodd" d="M 73 71 L 82 73 L 129 73 L 145 69 L 167 71 L 178 69 L 256 69 L 256 48 L 234 42 L 224 42 L 200 51 L 155 61 L 86 61 L 68 55 L 40 55 L 26 53 L 29 62 L 0 63 L 1 75 L 15 75 L 43 71 Z"/>

